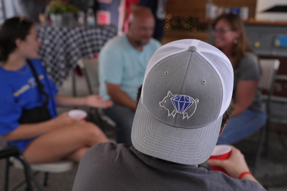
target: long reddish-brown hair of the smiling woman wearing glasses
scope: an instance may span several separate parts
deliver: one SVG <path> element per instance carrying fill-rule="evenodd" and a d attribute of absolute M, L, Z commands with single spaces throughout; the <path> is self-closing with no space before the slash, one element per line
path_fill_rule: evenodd
<path fill-rule="evenodd" d="M 233 68 L 235 69 L 242 58 L 242 56 L 245 55 L 246 52 L 252 52 L 254 53 L 251 45 L 249 44 L 249 41 L 246 36 L 244 24 L 240 17 L 238 15 L 234 14 L 224 14 L 222 16 L 219 16 L 213 23 L 213 28 L 215 25 L 220 21 L 221 19 L 224 19 L 228 22 L 231 30 L 233 31 L 241 31 L 241 35 L 239 38 L 237 38 L 237 44 L 234 44 L 233 53 L 232 56 L 234 58 L 234 63 L 232 63 Z M 255 53 L 254 53 L 255 54 Z"/>

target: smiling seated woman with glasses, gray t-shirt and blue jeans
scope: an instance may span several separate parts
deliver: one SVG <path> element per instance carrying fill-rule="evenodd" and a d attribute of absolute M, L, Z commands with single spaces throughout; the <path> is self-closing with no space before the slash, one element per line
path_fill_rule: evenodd
<path fill-rule="evenodd" d="M 217 144 L 232 144 L 256 132 L 265 124 L 265 107 L 258 89 L 260 67 L 239 16 L 228 14 L 213 24 L 214 46 L 230 60 L 234 71 L 233 118 L 228 121 Z"/>

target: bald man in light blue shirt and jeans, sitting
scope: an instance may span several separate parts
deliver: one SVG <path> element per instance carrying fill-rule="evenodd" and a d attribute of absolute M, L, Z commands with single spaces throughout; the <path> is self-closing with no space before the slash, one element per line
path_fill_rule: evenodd
<path fill-rule="evenodd" d="M 138 87 L 144 81 L 149 59 L 161 46 L 151 38 L 154 27 L 152 12 L 138 6 L 131 14 L 128 33 L 109 40 L 100 52 L 100 95 L 115 102 L 104 112 L 117 124 L 117 143 L 127 146 L 132 146 Z"/>

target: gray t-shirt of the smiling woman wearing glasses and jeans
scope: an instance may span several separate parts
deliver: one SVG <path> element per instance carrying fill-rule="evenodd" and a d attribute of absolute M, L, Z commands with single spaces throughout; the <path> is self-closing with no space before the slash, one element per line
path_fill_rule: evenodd
<path fill-rule="evenodd" d="M 236 86 L 238 81 L 244 80 L 260 80 L 260 67 L 259 61 L 255 54 L 251 52 L 245 53 L 238 63 L 237 68 L 234 70 L 234 85 L 232 98 L 236 101 Z M 257 89 L 256 96 L 253 102 L 248 107 L 249 110 L 257 111 L 260 113 L 265 112 L 265 106 L 262 102 L 261 91 Z"/>

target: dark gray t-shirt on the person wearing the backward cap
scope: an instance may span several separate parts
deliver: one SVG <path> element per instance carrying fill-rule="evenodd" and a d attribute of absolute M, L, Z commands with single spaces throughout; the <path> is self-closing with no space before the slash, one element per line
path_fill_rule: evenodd
<path fill-rule="evenodd" d="M 73 191 L 256 191 L 250 180 L 230 178 L 219 171 L 183 165 L 145 155 L 124 144 L 100 143 L 80 161 Z"/>

